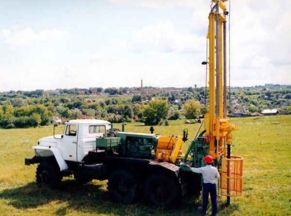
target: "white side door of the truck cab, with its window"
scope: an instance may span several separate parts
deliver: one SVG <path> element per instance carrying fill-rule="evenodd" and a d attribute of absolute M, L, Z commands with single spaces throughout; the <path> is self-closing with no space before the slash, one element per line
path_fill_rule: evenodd
<path fill-rule="evenodd" d="M 65 160 L 77 161 L 78 125 L 67 124 L 60 149 Z"/>

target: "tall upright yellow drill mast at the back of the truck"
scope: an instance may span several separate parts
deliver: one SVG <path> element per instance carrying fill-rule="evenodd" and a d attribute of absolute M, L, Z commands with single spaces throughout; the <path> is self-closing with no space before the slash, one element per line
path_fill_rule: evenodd
<path fill-rule="evenodd" d="M 235 126 L 226 119 L 226 0 L 212 0 L 209 14 L 209 113 L 205 114 L 206 136 L 210 137 L 209 154 L 213 159 L 226 156 Z M 221 13 L 222 12 L 222 13 Z"/>

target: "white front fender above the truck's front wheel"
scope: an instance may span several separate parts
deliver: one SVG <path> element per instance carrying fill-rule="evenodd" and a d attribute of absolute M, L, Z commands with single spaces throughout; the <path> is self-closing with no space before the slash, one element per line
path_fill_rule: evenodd
<path fill-rule="evenodd" d="M 54 156 L 61 171 L 68 169 L 68 165 L 66 164 L 64 158 L 62 157 L 62 154 L 59 149 L 47 146 L 33 146 L 32 148 L 37 157 Z"/>

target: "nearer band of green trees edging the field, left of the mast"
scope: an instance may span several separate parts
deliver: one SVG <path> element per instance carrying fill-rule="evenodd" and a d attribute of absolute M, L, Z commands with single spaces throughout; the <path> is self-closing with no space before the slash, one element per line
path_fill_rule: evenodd
<path fill-rule="evenodd" d="M 146 125 L 157 125 L 170 115 L 178 119 L 181 113 L 165 100 L 149 101 L 148 104 L 135 103 L 132 99 L 106 99 L 87 103 L 84 98 L 38 98 L 23 101 L 15 99 L 10 103 L 0 105 L 0 127 L 28 128 L 45 126 L 51 123 L 52 116 L 65 119 L 76 119 L 81 115 L 105 119 L 112 123 L 130 122 L 134 116 L 137 121 Z M 40 104 L 39 104 L 40 103 Z M 184 105 L 187 118 L 197 118 L 200 115 L 200 104 L 188 101 Z"/>

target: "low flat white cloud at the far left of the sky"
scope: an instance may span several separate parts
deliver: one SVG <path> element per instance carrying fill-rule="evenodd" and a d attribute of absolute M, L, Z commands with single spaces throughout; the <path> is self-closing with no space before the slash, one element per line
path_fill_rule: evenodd
<path fill-rule="evenodd" d="M 36 33 L 31 28 L 18 29 L 13 27 L 0 31 L 0 36 L 4 38 L 4 43 L 9 46 L 27 45 L 33 41 L 49 41 L 62 38 L 66 35 L 68 35 L 66 31 L 58 29 L 44 29 Z"/>

